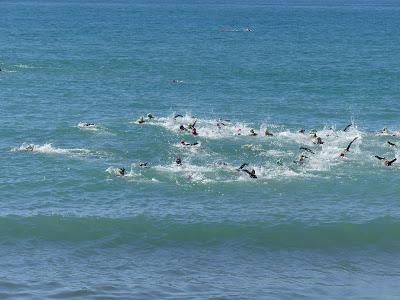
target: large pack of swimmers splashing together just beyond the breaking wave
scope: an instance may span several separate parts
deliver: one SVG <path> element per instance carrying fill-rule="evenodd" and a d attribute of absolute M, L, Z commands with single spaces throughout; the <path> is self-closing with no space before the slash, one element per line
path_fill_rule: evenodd
<path fill-rule="evenodd" d="M 174 117 L 173 117 L 173 119 L 175 121 L 177 121 L 179 119 L 182 119 L 182 118 L 184 118 L 184 116 L 181 115 L 181 114 L 175 114 Z M 143 117 L 143 116 L 140 117 L 137 120 L 137 123 L 138 124 L 144 124 L 146 122 L 151 122 L 153 119 L 154 119 L 153 114 L 149 113 L 149 114 L 147 114 L 146 118 Z M 218 129 L 221 129 L 223 126 L 227 126 L 229 122 L 230 122 L 230 120 L 219 119 L 219 120 L 216 121 L 216 127 Z M 177 130 L 179 130 L 181 132 L 189 133 L 189 134 L 191 134 L 193 136 L 198 136 L 199 135 L 199 133 L 197 131 L 197 128 L 196 128 L 197 119 L 195 119 L 194 122 L 187 124 L 186 126 L 183 125 L 181 122 L 178 122 L 178 124 L 179 125 L 178 125 Z M 343 129 L 343 132 L 348 131 L 351 126 L 353 126 L 353 124 L 347 125 Z M 95 123 L 86 123 L 86 122 L 85 123 L 79 123 L 79 127 L 82 127 L 82 128 L 95 128 L 96 124 Z M 337 137 L 338 136 L 334 129 L 330 128 L 330 130 L 331 130 L 331 133 L 326 134 L 327 137 L 329 137 L 329 136 Z M 301 128 L 300 130 L 298 130 L 298 134 L 305 135 L 306 134 L 305 129 Z M 241 128 L 237 129 L 236 135 L 238 135 L 238 136 L 244 135 Z M 249 133 L 247 135 L 248 136 L 257 136 L 258 134 L 255 132 L 254 129 L 250 129 Z M 264 130 L 264 135 L 266 137 L 273 137 L 274 136 L 274 134 L 272 132 L 270 132 L 268 129 Z M 325 142 L 322 140 L 322 137 L 318 136 L 316 130 L 311 130 L 309 135 L 310 135 L 311 138 L 313 138 L 313 144 L 315 144 L 315 145 L 323 145 L 323 144 L 325 144 Z M 380 130 L 378 132 L 378 135 L 396 136 L 395 134 L 391 134 L 387 128 L 383 128 L 382 130 Z M 338 154 L 338 157 L 339 158 L 346 158 L 347 153 L 350 152 L 350 149 L 351 149 L 352 145 L 357 141 L 357 139 L 358 139 L 358 137 L 354 137 L 349 142 L 347 147 L 344 148 L 343 151 L 341 151 Z M 189 142 L 187 142 L 187 141 L 185 141 L 183 139 L 179 142 L 179 144 L 182 145 L 182 146 L 185 146 L 185 147 L 199 146 L 200 145 L 200 143 L 197 142 L 197 141 L 193 142 L 193 143 L 189 143 Z M 397 145 L 395 143 L 391 142 L 391 141 L 387 141 L 387 144 L 389 146 L 391 146 L 391 147 L 397 147 Z M 30 144 L 30 145 L 26 146 L 24 150 L 26 150 L 26 151 L 35 151 L 36 150 L 35 148 L 36 148 L 35 145 Z M 314 155 L 315 154 L 314 150 L 312 150 L 312 149 L 310 149 L 308 147 L 302 146 L 302 147 L 299 148 L 299 150 L 302 150 L 302 153 L 299 155 L 297 160 L 293 161 L 296 164 L 303 164 L 306 161 L 306 159 L 310 158 L 310 155 Z M 387 166 L 387 167 L 392 166 L 393 163 L 397 161 L 397 158 L 387 159 L 386 157 L 382 157 L 382 156 L 379 156 L 379 155 L 374 155 L 374 158 L 376 158 L 376 159 L 378 159 L 380 161 L 383 161 L 384 166 Z M 182 166 L 183 162 L 182 162 L 181 157 L 179 157 L 179 156 L 176 157 L 175 164 L 178 167 Z M 277 164 L 278 165 L 282 165 L 283 163 L 282 163 L 281 160 L 278 160 Z M 140 163 L 138 163 L 137 166 L 139 168 L 148 168 L 149 164 L 148 164 L 148 162 L 140 162 Z M 233 168 L 232 166 L 229 166 L 226 163 L 219 164 L 219 166 Z M 246 167 L 248 167 L 248 164 L 247 163 L 243 163 L 240 167 L 233 168 L 233 169 L 235 171 L 237 171 L 237 172 L 244 172 L 250 178 L 256 179 L 257 178 L 256 171 L 253 168 L 248 169 Z M 126 175 L 126 169 L 123 168 L 123 167 L 117 168 L 117 169 L 115 169 L 115 174 L 119 175 L 119 176 L 124 176 L 124 175 Z"/>

